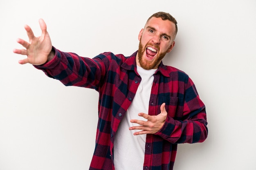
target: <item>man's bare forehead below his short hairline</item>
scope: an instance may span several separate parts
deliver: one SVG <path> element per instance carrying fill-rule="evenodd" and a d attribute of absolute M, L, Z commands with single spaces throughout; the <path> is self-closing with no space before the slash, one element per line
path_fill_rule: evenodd
<path fill-rule="evenodd" d="M 175 32 L 175 24 L 170 20 L 162 20 L 162 18 L 150 18 L 150 20 L 148 20 L 148 22 L 146 23 L 144 29 L 146 29 L 147 27 L 152 27 L 155 30 L 161 33 L 166 33 L 168 35 L 173 35 Z"/>

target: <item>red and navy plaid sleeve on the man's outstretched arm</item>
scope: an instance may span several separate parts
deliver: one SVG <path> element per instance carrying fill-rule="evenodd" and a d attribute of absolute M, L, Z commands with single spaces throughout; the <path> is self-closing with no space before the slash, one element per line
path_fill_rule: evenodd
<path fill-rule="evenodd" d="M 36 68 L 48 77 L 60 80 L 65 86 L 99 88 L 101 79 L 106 75 L 106 62 L 103 57 L 80 57 L 75 53 L 61 52 L 53 47 L 54 58 Z M 106 60 L 105 60 L 106 61 Z"/>

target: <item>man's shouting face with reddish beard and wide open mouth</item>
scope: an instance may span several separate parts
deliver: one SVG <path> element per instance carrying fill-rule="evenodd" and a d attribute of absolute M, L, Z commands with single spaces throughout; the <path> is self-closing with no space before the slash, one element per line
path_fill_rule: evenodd
<path fill-rule="evenodd" d="M 175 44 L 175 24 L 162 18 L 151 18 L 139 32 L 137 65 L 149 70 L 157 68 Z"/>

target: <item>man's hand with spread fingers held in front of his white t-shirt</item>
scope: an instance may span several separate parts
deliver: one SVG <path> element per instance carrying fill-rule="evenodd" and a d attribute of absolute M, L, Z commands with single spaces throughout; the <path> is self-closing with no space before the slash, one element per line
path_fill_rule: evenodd
<path fill-rule="evenodd" d="M 131 119 L 130 122 L 139 124 L 140 126 L 132 126 L 129 130 L 141 130 L 139 132 L 135 132 L 134 135 L 155 134 L 162 128 L 167 117 L 165 103 L 161 105 L 160 110 L 161 113 L 154 116 L 146 113 L 139 113 L 138 115 L 144 117 L 147 121 Z"/>

